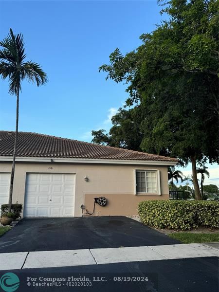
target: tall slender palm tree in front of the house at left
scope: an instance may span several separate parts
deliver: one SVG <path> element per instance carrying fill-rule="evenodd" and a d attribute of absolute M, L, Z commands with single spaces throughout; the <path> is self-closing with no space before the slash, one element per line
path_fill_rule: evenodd
<path fill-rule="evenodd" d="M 32 61 L 24 62 L 26 55 L 24 54 L 23 35 L 14 35 L 12 29 L 10 29 L 8 36 L 0 41 L 0 47 L 2 47 L 0 50 L 1 78 L 9 78 L 9 93 L 17 96 L 15 144 L 8 200 L 8 212 L 11 212 L 18 142 L 19 91 L 21 91 L 21 81 L 27 79 L 28 81 L 36 82 L 37 86 L 40 86 L 47 82 L 47 75 L 42 71 L 39 64 Z"/>

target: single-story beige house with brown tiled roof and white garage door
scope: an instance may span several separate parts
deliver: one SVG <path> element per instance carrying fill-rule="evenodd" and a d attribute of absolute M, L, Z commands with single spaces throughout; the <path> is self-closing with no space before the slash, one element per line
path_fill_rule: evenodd
<path fill-rule="evenodd" d="M 15 132 L 0 131 L 0 204 L 8 203 L 14 138 Z M 169 199 L 167 166 L 176 164 L 175 158 L 18 132 L 13 203 L 23 204 L 26 218 L 135 216 L 140 201 Z M 105 199 L 94 204 L 100 197 L 105 206 Z"/>

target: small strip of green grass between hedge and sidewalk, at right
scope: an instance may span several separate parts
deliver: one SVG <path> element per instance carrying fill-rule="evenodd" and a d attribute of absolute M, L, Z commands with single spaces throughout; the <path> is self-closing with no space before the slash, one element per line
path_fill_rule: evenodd
<path fill-rule="evenodd" d="M 183 243 L 217 242 L 219 234 L 217 233 L 189 233 L 176 232 L 168 234 L 169 237 L 182 241 Z"/>

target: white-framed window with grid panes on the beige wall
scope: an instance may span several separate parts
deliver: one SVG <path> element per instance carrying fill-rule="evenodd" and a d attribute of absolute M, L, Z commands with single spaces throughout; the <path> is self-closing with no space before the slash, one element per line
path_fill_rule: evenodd
<path fill-rule="evenodd" d="M 136 191 L 137 193 L 157 194 L 157 171 L 136 170 Z"/>

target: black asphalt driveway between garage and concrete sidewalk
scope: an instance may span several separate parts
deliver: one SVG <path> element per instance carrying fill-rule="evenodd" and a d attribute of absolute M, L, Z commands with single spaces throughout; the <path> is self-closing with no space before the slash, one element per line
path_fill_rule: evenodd
<path fill-rule="evenodd" d="M 0 253 L 179 243 L 122 216 L 22 219 L 0 237 Z"/>

